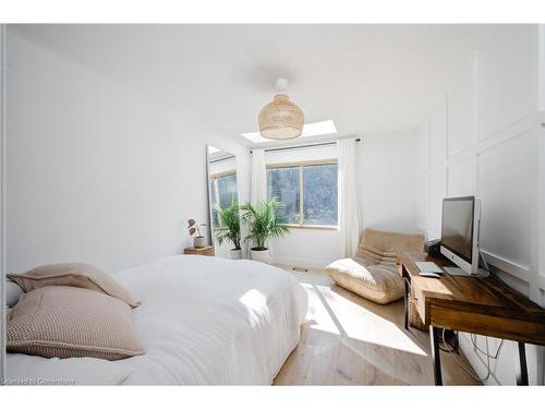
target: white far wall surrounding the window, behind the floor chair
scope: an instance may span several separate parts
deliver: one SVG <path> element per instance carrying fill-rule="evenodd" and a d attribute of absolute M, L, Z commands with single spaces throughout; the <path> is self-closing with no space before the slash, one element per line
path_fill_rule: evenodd
<path fill-rule="evenodd" d="M 363 226 L 416 231 L 416 132 L 365 135 L 356 143 L 358 190 Z M 267 154 L 267 163 L 337 158 L 337 147 Z M 274 262 L 323 268 L 340 257 L 338 230 L 292 229 L 274 242 Z"/>

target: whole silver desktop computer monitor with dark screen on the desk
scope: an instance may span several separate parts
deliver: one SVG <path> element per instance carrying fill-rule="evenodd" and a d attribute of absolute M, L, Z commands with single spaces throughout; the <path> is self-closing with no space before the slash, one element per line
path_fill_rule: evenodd
<path fill-rule="evenodd" d="M 475 196 L 443 200 L 441 254 L 468 274 L 479 272 L 481 201 Z"/>

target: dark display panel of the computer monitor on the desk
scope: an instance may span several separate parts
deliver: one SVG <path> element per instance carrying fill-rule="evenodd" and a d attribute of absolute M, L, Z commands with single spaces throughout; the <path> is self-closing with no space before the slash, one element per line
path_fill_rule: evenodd
<path fill-rule="evenodd" d="M 471 263 L 473 252 L 473 212 L 475 199 L 443 201 L 441 245 Z"/>

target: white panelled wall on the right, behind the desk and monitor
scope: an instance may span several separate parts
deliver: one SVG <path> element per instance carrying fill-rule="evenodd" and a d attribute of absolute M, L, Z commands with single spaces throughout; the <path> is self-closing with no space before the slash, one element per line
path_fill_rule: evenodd
<path fill-rule="evenodd" d="M 501 278 L 545 304 L 538 274 L 537 29 L 483 26 L 475 50 L 456 69 L 448 89 L 419 128 L 417 224 L 440 236 L 441 201 L 482 200 L 481 249 Z M 543 216 L 544 209 L 541 209 Z M 470 362 L 484 374 L 485 360 L 461 337 Z M 484 349 L 484 338 L 477 345 Z M 491 340 L 494 353 L 499 340 Z M 543 348 L 528 347 L 530 380 L 543 384 Z M 489 384 L 513 384 L 516 344 L 493 362 Z"/>

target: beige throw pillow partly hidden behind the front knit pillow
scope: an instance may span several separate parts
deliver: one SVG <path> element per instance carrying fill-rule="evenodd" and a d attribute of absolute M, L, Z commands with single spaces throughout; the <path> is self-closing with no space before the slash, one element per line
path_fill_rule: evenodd
<path fill-rule="evenodd" d="M 104 292 L 123 300 L 132 308 L 140 305 L 121 285 L 101 269 L 85 263 L 47 264 L 23 274 L 8 274 L 25 292 L 48 286 L 69 286 Z"/>

